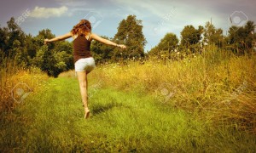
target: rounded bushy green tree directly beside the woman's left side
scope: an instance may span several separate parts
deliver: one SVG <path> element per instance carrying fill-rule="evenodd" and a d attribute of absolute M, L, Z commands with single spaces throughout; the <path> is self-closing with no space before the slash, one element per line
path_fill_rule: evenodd
<path fill-rule="evenodd" d="M 37 65 L 42 71 L 46 71 L 49 76 L 58 77 L 62 71 L 73 69 L 72 44 L 67 41 L 43 44 L 45 37 L 55 37 L 51 31 L 42 30 L 38 32 L 34 42 L 37 44 L 37 54 L 32 59 L 32 64 Z"/>

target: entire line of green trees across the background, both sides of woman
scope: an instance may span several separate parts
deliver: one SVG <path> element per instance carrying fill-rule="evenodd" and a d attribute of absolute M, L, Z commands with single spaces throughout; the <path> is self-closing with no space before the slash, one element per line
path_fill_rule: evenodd
<path fill-rule="evenodd" d="M 100 42 L 91 43 L 91 52 L 96 63 L 118 62 L 124 60 L 145 59 L 145 57 L 169 56 L 172 52 L 195 53 L 204 46 L 215 45 L 218 48 L 230 49 L 234 53 L 244 53 L 253 48 L 255 25 L 247 21 L 242 27 L 230 27 L 229 34 L 223 35 L 210 22 L 206 26 L 185 26 L 181 31 L 181 40 L 173 33 L 167 33 L 160 43 L 145 53 L 147 43 L 143 35 L 142 20 L 135 15 L 128 15 L 119 22 L 118 31 L 113 38 L 105 37 L 113 42 L 124 43 L 128 48 L 119 50 Z M 37 66 L 49 76 L 57 77 L 62 71 L 73 69 L 73 42 L 61 41 L 44 45 L 44 38 L 55 37 L 49 29 L 38 31 L 37 36 L 26 34 L 15 23 L 15 18 L 7 22 L 7 27 L 0 26 L 0 64 L 14 61 L 22 67 Z M 104 37 L 104 36 L 102 36 Z M 2 67 L 2 66 L 1 66 Z"/>

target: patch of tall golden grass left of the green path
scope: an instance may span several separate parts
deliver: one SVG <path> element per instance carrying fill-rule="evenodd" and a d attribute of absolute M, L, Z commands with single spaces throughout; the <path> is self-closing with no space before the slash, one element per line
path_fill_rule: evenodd
<path fill-rule="evenodd" d="M 26 98 L 29 94 L 36 93 L 39 87 L 44 86 L 48 77 L 36 67 L 24 68 L 17 65 L 14 60 L 7 58 L 2 60 L 3 64 L 0 67 L 0 111 L 8 112 L 24 100 L 20 99 L 22 96 Z"/>

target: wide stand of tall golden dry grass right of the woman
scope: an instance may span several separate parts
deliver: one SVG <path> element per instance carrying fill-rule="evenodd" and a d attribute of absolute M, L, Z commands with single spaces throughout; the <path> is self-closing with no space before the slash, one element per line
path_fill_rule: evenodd
<path fill-rule="evenodd" d="M 196 112 L 215 125 L 256 133 L 255 54 L 236 56 L 209 47 L 165 64 L 149 60 L 143 65 L 98 65 L 90 78 L 122 90 L 140 88 L 163 105 Z"/>

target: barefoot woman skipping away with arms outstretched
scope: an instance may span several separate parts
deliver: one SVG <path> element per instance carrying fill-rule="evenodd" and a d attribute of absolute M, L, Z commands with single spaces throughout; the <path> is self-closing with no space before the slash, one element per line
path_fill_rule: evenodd
<path fill-rule="evenodd" d="M 80 94 L 84 104 L 84 118 L 87 119 L 90 116 L 90 110 L 88 108 L 87 75 L 96 67 L 95 61 L 90 54 L 90 42 L 92 40 L 96 40 L 98 42 L 102 42 L 118 48 L 125 49 L 126 47 L 123 44 L 111 42 L 107 39 L 97 36 L 95 33 L 91 33 L 90 21 L 88 20 L 80 20 L 79 24 L 73 26 L 73 30 L 65 35 L 52 39 L 44 39 L 44 44 L 47 44 L 48 42 L 65 40 L 70 37 L 73 37 L 73 59 L 75 71 L 79 78 Z"/>

